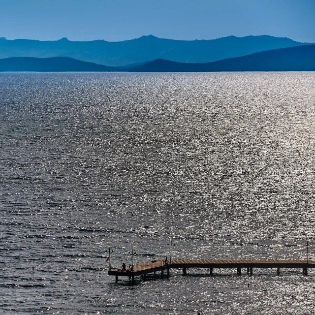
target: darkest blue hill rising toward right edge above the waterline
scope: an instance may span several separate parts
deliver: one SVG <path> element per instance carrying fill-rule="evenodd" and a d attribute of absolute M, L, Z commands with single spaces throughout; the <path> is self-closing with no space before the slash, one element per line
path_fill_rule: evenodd
<path fill-rule="evenodd" d="M 212 63 L 176 63 L 157 59 L 131 72 L 315 71 L 315 45 L 268 50 Z"/>

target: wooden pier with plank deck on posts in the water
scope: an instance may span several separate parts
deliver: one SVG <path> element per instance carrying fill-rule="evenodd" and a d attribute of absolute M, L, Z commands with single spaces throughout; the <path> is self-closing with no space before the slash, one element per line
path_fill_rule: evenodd
<path fill-rule="evenodd" d="M 135 276 L 143 276 L 150 273 L 161 272 L 161 277 L 169 276 L 170 269 L 182 268 L 183 274 L 187 274 L 187 268 L 208 268 L 210 275 L 213 274 L 213 268 L 236 268 L 237 274 L 242 274 L 242 268 L 247 269 L 247 273 L 252 275 L 253 268 L 277 268 L 277 274 L 280 275 L 280 268 L 301 268 L 305 276 L 308 275 L 308 268 L 315 268 L 315 260 L 224 260 L 224 259 L 197 259 L 197 260 L 172 260 L 167 264 L 162 260 L 157 262 L 145 262 L 135 264 L 132 268 L 126 268 L 126 271 L 121 269 L 108 270 L 108 275 L 115 276 L 116 282 L 118 277 L 129 277 L 134 284 Z"/>

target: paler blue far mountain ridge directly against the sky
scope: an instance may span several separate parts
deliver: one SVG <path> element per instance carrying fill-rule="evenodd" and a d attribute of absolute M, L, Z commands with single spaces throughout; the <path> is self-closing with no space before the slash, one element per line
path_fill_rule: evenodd
<path fill-rule="evenodd" d="M 267 35 L 228 36 L 212 40 L 173 40 L 149 35 L 120 42 L 69 41 L 67 38 L 56 41 L 2 38 L 0 58 L 71 57 L 110 66 L 142 63 L 158 58 L 182 63 L 207 63 L 304 44 L 289 38 Z"/>

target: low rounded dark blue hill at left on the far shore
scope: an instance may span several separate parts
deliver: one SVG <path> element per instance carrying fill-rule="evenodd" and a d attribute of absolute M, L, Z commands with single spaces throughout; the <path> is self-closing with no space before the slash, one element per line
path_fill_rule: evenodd
<path fill-rule="evenodd" d="M 87 63 L 69 57 L 32 58 L 12 57 L 0 59 L 0 71 L 120 71 L 102 64 Z"/>

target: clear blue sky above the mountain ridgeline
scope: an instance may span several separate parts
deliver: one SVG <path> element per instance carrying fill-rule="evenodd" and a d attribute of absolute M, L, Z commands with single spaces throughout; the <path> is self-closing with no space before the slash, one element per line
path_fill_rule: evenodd
<path fill-rule="evenodd" d="M 315 0 L 0 0 L 0 37 L 120 41 L 235 35 L 315 42 Z"/>

